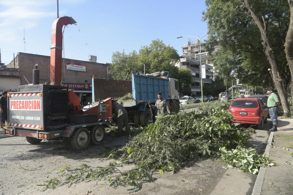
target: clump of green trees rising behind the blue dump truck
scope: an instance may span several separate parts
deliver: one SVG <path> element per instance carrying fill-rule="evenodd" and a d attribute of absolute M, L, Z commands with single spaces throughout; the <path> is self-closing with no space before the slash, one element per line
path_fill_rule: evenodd
<path fill-rule="evenodd" d="M 176 49 L 156 39 L 149 46 L 142 46 L 138 54 L 135 50 L 129 54 L 124 50 L 113 52 L 109 73 L 113 79 L 131 80 L 131 72 L 143 72 L 144 67 L 146 73 L 169 71 L 171 78 L 179 79 L 184 83 L 184 89 L 180 90 L 189 93 L 192 83 L 191 72 L 189 69 L 178 69 L 175 66 L 178 60 Z"/>

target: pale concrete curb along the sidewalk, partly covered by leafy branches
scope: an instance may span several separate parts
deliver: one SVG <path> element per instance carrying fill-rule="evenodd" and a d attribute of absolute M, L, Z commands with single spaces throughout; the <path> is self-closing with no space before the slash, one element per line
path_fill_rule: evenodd
<path fill-rule="evenodd" d="M 265 155 L 267 157 L 269 157 L 270 155 L 270 148 L 271 148 L 270 146 L 272 145 L 273 137 L 274 137 L 274 132 L 271 132 L 268 143 L 266 145 L 266 150 L 265 150 Z M 251 195 L 260 195 L 262 191 L 262 184 L 265 179 L 265 173 L 266 173 L 266 167 L 260 167 Z"/>

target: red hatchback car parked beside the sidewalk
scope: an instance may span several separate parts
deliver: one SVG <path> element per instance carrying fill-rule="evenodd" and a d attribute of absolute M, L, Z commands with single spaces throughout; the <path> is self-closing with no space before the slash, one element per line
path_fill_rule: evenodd
<path fill-rule="evenodd" d="M 269 109 L 259 99 L 237 98 L 231 103 L 228 112 L 234 115 L 234 123 L 257 124 L 258 129 L 268 121 Z"/>

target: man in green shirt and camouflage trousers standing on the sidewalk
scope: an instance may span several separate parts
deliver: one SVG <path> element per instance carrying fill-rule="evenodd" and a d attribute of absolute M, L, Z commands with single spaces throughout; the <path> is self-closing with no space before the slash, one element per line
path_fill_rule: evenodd
<path fill-rule="evenodd" d="M 273 93 L 272 88 L 269 88 L 267 93 L 269 94 L 269 98 L 268 98 L 269 113 L 273 121 L 273 127 L 270 129 L 270 131 L 278 131 L 277 124 L 278 124 L 278 112 L 280 109 L 280 101 L 278 99 L 278 96 L 275 93 Z"/>

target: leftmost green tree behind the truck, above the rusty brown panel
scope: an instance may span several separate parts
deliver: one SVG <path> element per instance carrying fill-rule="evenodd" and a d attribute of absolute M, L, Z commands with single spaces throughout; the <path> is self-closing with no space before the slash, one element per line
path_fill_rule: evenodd
<path fill-rule="evenodd" d="M 143 66 L 138 62 L 138 54 L 135 50 L 126 54 L 123 52 L 113 52 L 112 64 L 109 74 L 112 79 L 131 80 L 132 71 L 143 71 Z"/>

